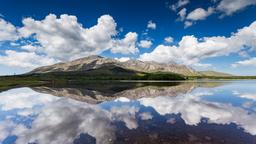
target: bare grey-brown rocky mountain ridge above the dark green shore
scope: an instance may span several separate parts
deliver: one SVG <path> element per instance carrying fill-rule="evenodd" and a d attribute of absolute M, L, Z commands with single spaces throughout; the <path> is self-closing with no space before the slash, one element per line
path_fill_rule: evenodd
<path fill-rule="evenodd" d="M 179 65 L 176 63 L 172 64 L 161 64 L 157 62 L 143 62 L 140 60 L 128 60 L 126 62 L 120 62 L 116 59 L 105 58 L 101 56 L 88 56 L 80 58 L 71 62 L 57 63 L 50 66 L 43 66 L 36 68 L 29 72 L 30 74 L 42 74 L 51 72 L 86 72 L 98 69 L 108 69 L 108 71 L 115 70 L 116 72 L 122 71 L 125 73 L 131 72 L 171 72 L 182 74 L 186 76 L 199 75 L 198 72 L 189 68 L 185 65 Z"/>

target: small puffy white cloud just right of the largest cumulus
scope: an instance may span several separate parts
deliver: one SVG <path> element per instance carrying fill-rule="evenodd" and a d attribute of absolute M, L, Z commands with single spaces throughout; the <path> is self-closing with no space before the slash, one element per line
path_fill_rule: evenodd
<path fill-rule="evenodd" d="M 111 52 L 121 54 L 135 54 L 139 52 L 139 49 L 136 47 L 137 38 L 137 33 L 129 32 L 123 39 L 113 40 L 111 43 Z"/>

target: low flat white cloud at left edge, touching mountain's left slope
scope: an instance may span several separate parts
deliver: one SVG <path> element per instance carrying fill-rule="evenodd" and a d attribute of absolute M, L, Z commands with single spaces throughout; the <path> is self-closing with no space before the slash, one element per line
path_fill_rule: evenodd
<path fill-rule="evenodd" d="M 6 50 L 5 55 L 0 55 L 0 64 L 11 67 L 32 69 L 42 65 L 50 65 L 59 61 L 34 52 L 16 52 Z"/>

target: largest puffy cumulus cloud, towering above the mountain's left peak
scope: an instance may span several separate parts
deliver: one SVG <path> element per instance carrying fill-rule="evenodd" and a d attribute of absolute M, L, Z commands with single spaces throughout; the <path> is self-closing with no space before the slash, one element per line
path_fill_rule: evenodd
<path fill-rule="evenodd" d="M 96 25 L 83 28 L 76 16 L 49 14 L 43 20 L 25 18 L 19 29 L 23 37 L 34 34 L 42 52 L 60 60 L 71 60 L 90 54 L 99 54 L 110 48 L 112 37 L 117 34 L 116 23 L 103 15 Z"/>

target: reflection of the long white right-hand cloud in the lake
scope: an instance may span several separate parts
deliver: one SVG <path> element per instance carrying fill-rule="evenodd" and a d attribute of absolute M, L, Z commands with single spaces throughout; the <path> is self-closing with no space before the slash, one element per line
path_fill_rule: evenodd
<path fill-rule="evenodd" d="M 256 135 L 256 113 L 248 114 L 246 110 L 230 104 L 203 101 L 200 97 L 206 95 L 192 92 L 176 97 L 141 98 L 138 101 L 146 107 L 154 108 L 160 115 L 180 114 L 187 125 L 196 126 L 202 118 L 207 118 L 208 123 L 235 123 L 246 132 Z"/>

